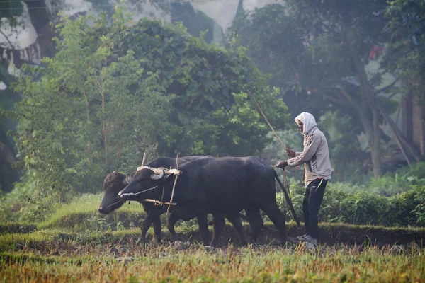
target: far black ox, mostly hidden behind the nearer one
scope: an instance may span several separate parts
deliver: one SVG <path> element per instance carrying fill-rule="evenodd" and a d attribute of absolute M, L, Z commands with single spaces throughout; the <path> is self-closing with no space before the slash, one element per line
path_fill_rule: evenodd
<path fill-rule="evenodd" d="M 179 165 L 183 165 L 184 163 L 187 163 L 188 161 L 193 161 L 200 158 L 212 158 L 212 156 L 182 157 L 182 158 L 179 158 Z M 167 157 L 157 158 L 147 163 L 147 166 L 156 167 L 156 168 L 159 168 L 159 167 L 175 168 L 176 158 L 167 158 Z M 131 176 L 126 176 L 122 173 L 118 173 L 115 171 L 107 175 L 105 180 L 103 181 L 103 188 L 105 190 L 105 195 L 103 196 L 103 200 L 101 202 L 101 206 L 98 208 L 98 211 L 103 214 L 109 214 L 113 212 L 115 209 L 118 209 L 121 206 L 123 206 L 125 201 L 120 199 L 120 197 L 118 196 L 118 192 L 120 192 L 120 190 L 123 190 L 124 187 L 130 183 L 131 179 L 132 179 Z M 153 224 L 155 239 L 157 243 L 161 243 L 162 231 L 161 231 L 160 215 L 166 212 L 168 206 L 155 205 L 151 202 L 143 202 L 142 200 L 143 199 L 137 199 L 137 201 L 143 205 L 143 208 L 145 209 L 147 217 L 145 221 L 143 221 L 143 224 L 141 227 L 142 234 L 140 236 L 139 241 L 142 244 L 145 244 L 146 233 L 149 230 L 149 227 Z M 157 199 L 157 200 L 161 200 L 161 199 Z M 165 198 L 164 198 L 164 201 L 166 201 Z M 176 234 L 176 231 L 174 229 L 174 225 L 176 224 L 176 222 L 179 221 L 179 219 L 183 219 L 183 221 L 188 221 L 190 219 L 195 218 L 196 215 L 195 214 L 190 215 L 186 213 L 183 215 L 183 217 L 181 217 L 179 214 L 179 209 L 175 209 L 175 207 L 172 207 L 170 211 L 171 211 L 171 214 L 167 221 L 167 229 L 169 230 L 173 241 L 176 241 L 176 240 L 179 240 Z M 220 233 L 222 231 L 222 228 L 225 226 L 225 215 L 212 214 L 212 217 L 214 222 L 214 233 L 212 236 L 212 241 L 210 243 L 210 246 L 216 246 L 218 239 L 220 238 Z M 235 226 L 238 226 L 239 223 L 241 222 L 240 215 L 234 216 L 234 217 L 227 216 L 227 219 Z M 207 230 L 207 233 L 208 233 L 208 230 Z M 208 239 L 208 236 L 203 236 L 203 239 Z M 244 241 L 244 238 L 241 238 L 241 240 Z M 208 243 L 204 241 L 204 245 L 208 245 Z"/>

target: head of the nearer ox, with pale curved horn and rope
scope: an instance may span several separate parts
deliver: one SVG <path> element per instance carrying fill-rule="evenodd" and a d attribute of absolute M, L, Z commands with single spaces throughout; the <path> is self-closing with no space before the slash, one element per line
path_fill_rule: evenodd
<path fill-rule="evenodd" d="M 118 195 L 121 200 L 143 200 L 146 198 L 155 198 L 162 190 L 156 190 L 162 187 L 162 183 L 169 177 L 164 169 L 140 168 L 132 178 L 130 185 L 121 190 Z"/>

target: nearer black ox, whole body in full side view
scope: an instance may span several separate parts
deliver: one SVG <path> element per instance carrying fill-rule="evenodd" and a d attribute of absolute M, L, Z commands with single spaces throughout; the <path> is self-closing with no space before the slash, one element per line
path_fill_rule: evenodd
<path fill-rule="evenodd" d="M 179 170 L 183 171 L 183 175 L 176 182 L 173 201 L 178 204 L 181 219 L 198 218 L 204 243 L 208 242 L 208 214 L 225 214 L 229 220 L 232 219 L 242 242 L 246 244 L 239 216 L 242 210 L 246 212 L 252 241 L 255 242 L 263 226 L 261 209 L 278 229 L 280 243 L 285 244 L 285 215 L 276 202 L 275 178 L 284 192 L 285 189 L 270 165 L 254 156 L 200 158 L 182 164 Z M 157 175 L 145 168 L 137 171 L 130 184 L 118 195 L 121 200 L 161 200 L 164 191 L 164 200 L 169 200 L 174 178 L 175 175 L 166 175 L 164 171 Z M 294 214 L 292 205 L 290 209 Z"/>

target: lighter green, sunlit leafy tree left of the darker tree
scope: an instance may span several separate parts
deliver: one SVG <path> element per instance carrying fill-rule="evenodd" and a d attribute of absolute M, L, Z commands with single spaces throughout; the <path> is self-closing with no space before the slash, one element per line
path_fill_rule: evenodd
<path fill-rule="evenodd" d="M 24 96 L 16 105 L 21 164 L 40 174 L 43 189 L 93 191 L 106 172 L 129 171 L 144 150 L 154 151 L 172 97 L 164 96 L 157 74 L 141 80 L 134 52 L 110 62 L 108 35 L 96 40 L 84 18 L 64 19 L 57 28 L 62 40 L 56 56 L 44 60 L 41 81 L 22 77 L 16 84 Z"/>

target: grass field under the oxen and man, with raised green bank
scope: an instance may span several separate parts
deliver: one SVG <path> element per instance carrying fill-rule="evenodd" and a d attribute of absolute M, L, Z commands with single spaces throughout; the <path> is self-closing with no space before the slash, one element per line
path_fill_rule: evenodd
<path fill-rule="evenodd" d="M 210 250 L 193 222 L 176 229 L 190 245 L 167 242 L 163 229 L 164 245 L 143 248 L 140 205 L 105 217 L 93 200 L 38 224 L 1 224 L 0 282 L 425 282 L 425 229 L 321 224 L 323 243 L 312 251 L 276 246 L 273 231 L 242 248 L 227 225 Z M 291 222 L 288 234 L 297 234 Z"/>

